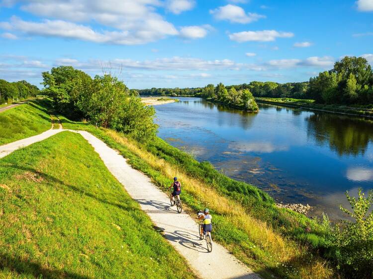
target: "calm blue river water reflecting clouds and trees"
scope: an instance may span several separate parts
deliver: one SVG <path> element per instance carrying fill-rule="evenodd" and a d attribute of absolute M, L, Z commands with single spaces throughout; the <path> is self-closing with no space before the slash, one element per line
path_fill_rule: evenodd
<path fill-rule="evenodd" d="M 278 202 L 337 220 L 346 191 L 373 188 L 373 120 L 259 104 L 246 113 L 200 98 L 155 106 L 159 137 Z"/>

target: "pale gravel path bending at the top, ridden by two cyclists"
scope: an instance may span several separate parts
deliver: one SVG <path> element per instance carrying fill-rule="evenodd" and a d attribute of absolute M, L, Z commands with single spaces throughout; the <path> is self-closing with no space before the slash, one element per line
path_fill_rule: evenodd
<path fill-rule="evenodd" d="M 63 131 L 79 133 L 93 146 L 108 170 L 163 231 L 164 237 L 187 259 L 196 275 L 205 279 L 260 279 L 217 243 L 213 243 L 212 252 L 207 253 L 206 242 L 199 240 L 195 220 L 185 212 L 177 213 L 175 207 L 170 207 L 168 196 L 145 174 L 133 169 L 117 151 L 86 131 L 48 130 L 40 135 L 0 146 L 0 158 Z"/>

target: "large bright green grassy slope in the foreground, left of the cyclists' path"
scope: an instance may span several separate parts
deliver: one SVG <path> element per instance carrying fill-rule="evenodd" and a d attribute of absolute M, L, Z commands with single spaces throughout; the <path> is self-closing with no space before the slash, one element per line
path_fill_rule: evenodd
<path fill-rule="evenodd" d="M 193 278 L 80 135 L 0 160 L 0 278 Z"/>

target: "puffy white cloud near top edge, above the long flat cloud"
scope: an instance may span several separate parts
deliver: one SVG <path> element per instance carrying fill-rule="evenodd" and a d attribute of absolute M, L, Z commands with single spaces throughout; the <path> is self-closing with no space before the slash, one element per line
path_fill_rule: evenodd
<path fill-rule="evenodd" d="M 235 23 L 250 23 L 265 17 L 257 13 L 246 13 L 243 8 L 232 4 L 210 10 L 210 13 L 218 20 L 229 20 Z"/>

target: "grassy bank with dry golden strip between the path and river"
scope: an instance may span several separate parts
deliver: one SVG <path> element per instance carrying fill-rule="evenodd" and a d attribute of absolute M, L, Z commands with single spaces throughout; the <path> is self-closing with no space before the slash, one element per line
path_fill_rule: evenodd
<path fill-rule="evenodd" d="M 161 139 L 142 146 L 114 131 L 60 118 L 65 128 L 90 131 L 117 149 L 163 190 L 177 175 L 183 184 L 183 202 L 192 209 L 191 214 L 204 207 L 212 209 L 213 238 L 263 277 L 332 278 L 325 261 L 307 247 L 314 242 L 317 249 L 322 241 L 323 232 L 314 221 L 276 208 L 256 187 L 219 174 L 211 165 L 198 163 Z M 306 234 L 308 225 L 313 232 Z"/>

